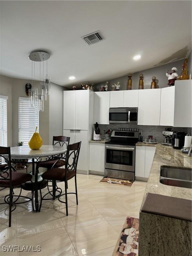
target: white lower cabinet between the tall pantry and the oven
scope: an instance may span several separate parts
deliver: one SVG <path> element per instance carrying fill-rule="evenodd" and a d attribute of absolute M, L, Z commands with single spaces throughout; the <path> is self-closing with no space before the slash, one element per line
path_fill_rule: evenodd
<path fill-rule="evenodd" d="M 89 171 L 104 173 L 105 143 L 89 143 Z"/>

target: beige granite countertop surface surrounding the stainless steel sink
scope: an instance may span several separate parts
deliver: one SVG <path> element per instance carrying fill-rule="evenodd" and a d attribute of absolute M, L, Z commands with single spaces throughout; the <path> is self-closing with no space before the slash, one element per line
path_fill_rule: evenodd
<path fill-rule="evenodd" d="M 151 171 L 149 174 L 149 178 L 146 185 L 145 194 L 143 197 L 143 202 L 141 207 L 143 206 L 143 203 L 145 201 L 145 196 L 147 193 L 173 196 L 173 197 L 191 200 L 192 189 L 168 186 L 160 183 L 160 169 L 161 169 L 161 165 L 191 168 L 192 157 L 189 157 L 187 156 L 187 154 L 182 153 L 181 150 L 179 149 L 173 149 L 172 146 L 166 146 L 161 144 L 155 144 L 155 146 L 156 146 L 156 151 L 155 151 L 155 155 L 154 155 L 153 163 L 151 166 Z"/>

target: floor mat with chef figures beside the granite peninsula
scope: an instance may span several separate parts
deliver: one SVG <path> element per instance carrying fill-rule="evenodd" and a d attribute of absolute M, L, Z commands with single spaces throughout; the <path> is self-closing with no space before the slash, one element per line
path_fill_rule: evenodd
<path fill-rule="evenodd" d="M 139 219 L 127 217 L 112 256 L 138 256 Z"/>

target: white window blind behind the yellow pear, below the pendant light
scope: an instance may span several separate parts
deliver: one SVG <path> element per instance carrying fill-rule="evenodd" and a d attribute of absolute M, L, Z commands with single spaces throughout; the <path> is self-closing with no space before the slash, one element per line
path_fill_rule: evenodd
<path fill-rule="evenodd" d="M 39 112 L 29 107 L 29 98 L 19 97 L 19 141 L 28 145 L 31 135 L 39 130 Z"/>

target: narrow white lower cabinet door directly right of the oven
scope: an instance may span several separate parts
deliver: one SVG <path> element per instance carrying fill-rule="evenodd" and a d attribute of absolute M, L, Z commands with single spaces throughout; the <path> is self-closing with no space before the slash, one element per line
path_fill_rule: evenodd
<path fill-rule="evenodd" d="M 145 177 L 145 146 L 136 146 L 135 149 L 135 176 Z"/>

